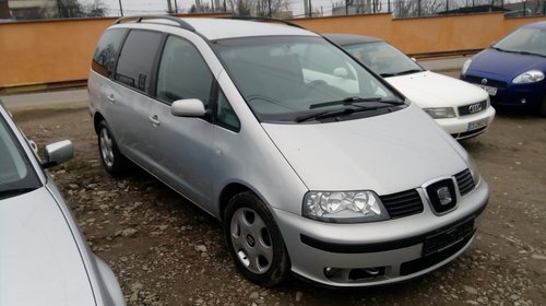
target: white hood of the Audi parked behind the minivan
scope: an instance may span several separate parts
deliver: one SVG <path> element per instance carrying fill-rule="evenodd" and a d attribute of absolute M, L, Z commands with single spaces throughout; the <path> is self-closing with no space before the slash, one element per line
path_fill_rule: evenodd
<path fill-rule="evenodd" d="M 487 93 L 478 86 L 431 71 L 385 78 L 422 108 L 458 107 L 487 99 Z"/>

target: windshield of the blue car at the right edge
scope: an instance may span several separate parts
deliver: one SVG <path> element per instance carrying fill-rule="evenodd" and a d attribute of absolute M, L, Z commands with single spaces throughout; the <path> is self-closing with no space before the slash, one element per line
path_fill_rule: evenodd
<path fill-rule="evenodd" d="M 522 27 L 494 44 L 491 48 L 546 57 L 546 30 Z"/>

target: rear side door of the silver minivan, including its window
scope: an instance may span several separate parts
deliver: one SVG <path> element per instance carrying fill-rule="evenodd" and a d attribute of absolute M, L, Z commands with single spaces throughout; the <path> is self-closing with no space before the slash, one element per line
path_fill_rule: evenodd
<path fill-rule="evenodd" d="M 152 31 L 131 30 L 121 48 L 115 82 L 105 89 L 108 114 L 107 123 L 127 157 L 144 168 L 154 164 L 150 137 L 150 108 L 154 84 L 154 67 L 163 34 Z M 146 125 L 147 122 L 147 125 Z"/>

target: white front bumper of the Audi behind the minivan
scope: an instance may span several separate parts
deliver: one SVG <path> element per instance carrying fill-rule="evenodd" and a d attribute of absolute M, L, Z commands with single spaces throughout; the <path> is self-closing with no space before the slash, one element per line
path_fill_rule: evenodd
<path fill-rule="evenodd" d="M 485 111 L 480 111 L 475 115 L 446 118 L 446 119 L 435 119 L 435 121 L 442 127 L 444 131 L 451 134 L 456 140 L 467 139 L 471 137 L 478 136 L 487 130 L 489 125 L 495 118 L 495 108 L 487 107 Z M 486 120 L 485 126 L 479 128 L 473 128 L 473 123 Z"/>

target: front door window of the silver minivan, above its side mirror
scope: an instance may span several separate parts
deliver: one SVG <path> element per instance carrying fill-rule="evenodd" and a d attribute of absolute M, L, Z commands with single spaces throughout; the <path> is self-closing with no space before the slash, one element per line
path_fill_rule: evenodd
<path fill-rule="evenodd" d="M 199 98 L 207 106 L 212 80 L 199 50 L 185 39 L 169 36 L 157 73 L 157 98 L 167 103 Z"/>

